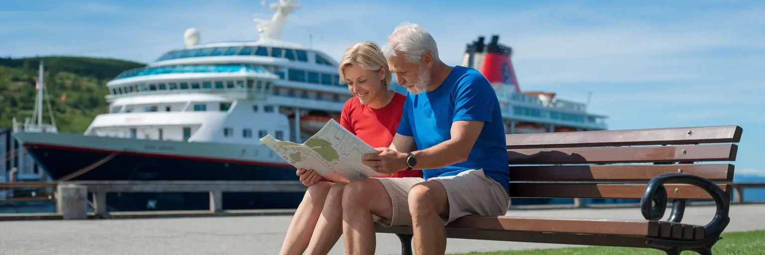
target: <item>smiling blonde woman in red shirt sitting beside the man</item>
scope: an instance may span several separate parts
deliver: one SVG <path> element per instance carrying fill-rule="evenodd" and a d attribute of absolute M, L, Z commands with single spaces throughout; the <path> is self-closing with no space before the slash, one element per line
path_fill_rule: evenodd
<path fill-rule="evenodd" d="M 343 105 L 340 125 L 372 147 L 388 147 L 396 135 L 406 96 L 388 89 L 391 73 L 379 46 L 365 41 L 348 47 L 338 69 L 340 82 L 347 83 L 353 93 Z M 308 191 L 292 217 L 281 254 L 327 254 L 343 234 L 345 183 L 327 181 L 311 169 L 298 169 L 297 175 Z M 422 171 L 375 177 L 422 178 Z"/>

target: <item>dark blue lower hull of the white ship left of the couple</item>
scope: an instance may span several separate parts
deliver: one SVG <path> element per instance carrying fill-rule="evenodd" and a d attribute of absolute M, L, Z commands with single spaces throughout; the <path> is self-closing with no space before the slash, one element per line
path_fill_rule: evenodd
<path fill-rule="evenodd" d="M 54 180 L 99 162 L 112 152 L 60 145 L 27 144 Z M 71 180 L 297 181 L 291 165 L 198 159 L 150 153 L 120 153 Z M 223 210 L 297 208 L 303 192 L 223 193 Z M 207 210 L 207 193 L 110 193 L 109 211 Z"/>

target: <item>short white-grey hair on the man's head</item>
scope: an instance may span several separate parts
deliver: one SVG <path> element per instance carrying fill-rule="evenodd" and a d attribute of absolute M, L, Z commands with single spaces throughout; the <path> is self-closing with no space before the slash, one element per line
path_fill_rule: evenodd
<path fill-rule="evenodd" d="M 401 53 L 407 62 L 418 63 L 425 51 L 430 51 L 434 60 L 438 60 L 438 45 L 431 34 L 420 25 L 405 21 L 390 34 L 382 52 L 386 57 Z"/>

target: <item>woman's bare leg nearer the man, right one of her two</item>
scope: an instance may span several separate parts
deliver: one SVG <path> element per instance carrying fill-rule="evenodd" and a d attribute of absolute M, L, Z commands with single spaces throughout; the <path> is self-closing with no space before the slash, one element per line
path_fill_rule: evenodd
<path fill-rule="evenodd" d="M 334 244 L 343 234 L 343 188 L 344 183 L 336 183 L 330 188 L 324 208 L 321 209 L 321 217 L 316 223 L 311 243 L 308 244 L 306 254 L 330 253 Z"/>

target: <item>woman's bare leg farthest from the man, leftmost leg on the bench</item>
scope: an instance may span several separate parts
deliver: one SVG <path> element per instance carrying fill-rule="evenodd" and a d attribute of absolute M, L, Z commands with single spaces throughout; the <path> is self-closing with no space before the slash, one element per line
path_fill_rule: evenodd
<path fill-rule="evenodd" d="M 321 208 L 324 208 L 324 201 L 332 188 L 330 181 L 319 181 L 308 187 L 305 191 L 303 201 L 295 210 L 292 221 L 287 229 L 285 242 L 282 244 L 281 255 L 302 254 L 308 242 L 311 241 L 311 234 L 314 233 L 316 221 L 321 214 Z"/>

